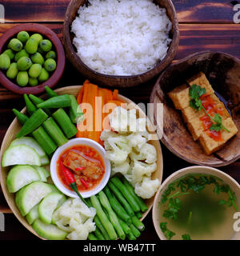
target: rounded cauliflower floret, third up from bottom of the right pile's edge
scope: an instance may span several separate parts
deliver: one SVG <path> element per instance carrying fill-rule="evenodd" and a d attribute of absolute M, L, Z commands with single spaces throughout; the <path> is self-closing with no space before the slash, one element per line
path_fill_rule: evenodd
<path fill-rule="evenodd" d="M 138 150 L 138 147 L 136 148 Z M 139 153 L 136 154 L 134 151 L 131 152 L 130 158 L 136 160 L 142 160 L 146 163 L 154 163 L 157 161 L 157 150 L 149 143 L 145 143 L 140 147 Z"/>

